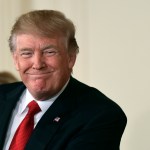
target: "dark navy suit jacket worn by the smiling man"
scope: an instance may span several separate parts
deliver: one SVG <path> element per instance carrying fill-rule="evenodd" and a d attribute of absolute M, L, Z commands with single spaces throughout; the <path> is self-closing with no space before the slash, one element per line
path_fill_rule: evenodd
<path fill-rule="evenodd" d="M 23 83 L 0 86 L 0 150 L 24 89 Z M 71 78 L 37 124 L 25 150 L 119 150 L 125 126 L 126 116 L 116 103 Z"/>

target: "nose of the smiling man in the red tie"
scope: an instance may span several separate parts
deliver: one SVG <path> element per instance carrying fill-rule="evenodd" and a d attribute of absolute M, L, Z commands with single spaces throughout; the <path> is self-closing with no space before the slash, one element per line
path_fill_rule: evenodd
<path fill-rule="evenodd" d="M 41 54 L 35 54 L 33 59 L 33 69 L 40 70 L 45 68 L 45 61 Z"/>

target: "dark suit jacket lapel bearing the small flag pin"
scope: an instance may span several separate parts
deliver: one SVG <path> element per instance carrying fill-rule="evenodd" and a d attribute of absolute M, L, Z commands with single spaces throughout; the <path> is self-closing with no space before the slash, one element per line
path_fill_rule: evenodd
<path fill-rule="evenodd" d="M 72 110 L 74 110 L 73 107 L 76 106 L 76 95 L 73 94 L 74 90 L 72 88 L 72 81 L 70 81 L 65 91 L 55 100 L 37 124 L 26 150 L 46 149 L 61 124 L 70 117 Z"/>

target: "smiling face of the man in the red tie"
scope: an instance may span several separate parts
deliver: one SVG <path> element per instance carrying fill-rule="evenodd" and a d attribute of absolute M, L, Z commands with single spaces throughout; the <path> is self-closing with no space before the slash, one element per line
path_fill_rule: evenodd
<path fill-rule="evenodd" d="M 70 77 L 76 54 L 69 54 L 63 37 L 21 34 L 13 53 L 16 69 L 38 100 L 57 94 Z"/>

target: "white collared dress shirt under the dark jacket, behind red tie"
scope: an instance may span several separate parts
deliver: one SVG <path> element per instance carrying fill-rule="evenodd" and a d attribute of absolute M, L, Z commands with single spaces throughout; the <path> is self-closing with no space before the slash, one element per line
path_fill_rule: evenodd
<path fill-rule="evenodd" d="M 65 86 L 62 88 L 62 90 L 57 95 L 55 95 L 51 99 L 44 100 L 44 101 L 35 100 L 35 98 L 30 94 L 30 92 L 27 89 L 23 92 L 23 94 L 20 97 L 20 100 L 18 101 L 18 103 L 16 105 L 16 108 L 13 111 L 13 114 L 12 114 L 12 117 L 10 120 L 10 124 L 8 127 L 8 131 L 6 134 L 6 139 L 5 139 L 3 150 L 9 149 L 10 143 L 13 139 L 13 136 L 14 136 L 18 126 L 20 125 L 20 123 L 22 122 L 22 120 L 24 119 L 24 117 L 26 116 L 26 114 L 28 112 L 27 105 L 32 100 L 35 100 L 38 103 L 39 107 L 41 108 L 41 111 L 34 116 L 34 127 L 35 127 L 36 124 L 38 123 L 38 121 L 43 116 L 43 114 L 47 111 L 47 109 L 52 105 L 52 103 L 57 99 L 57 97 L 64 91 L 68 82 L 65 84 Z"/>

